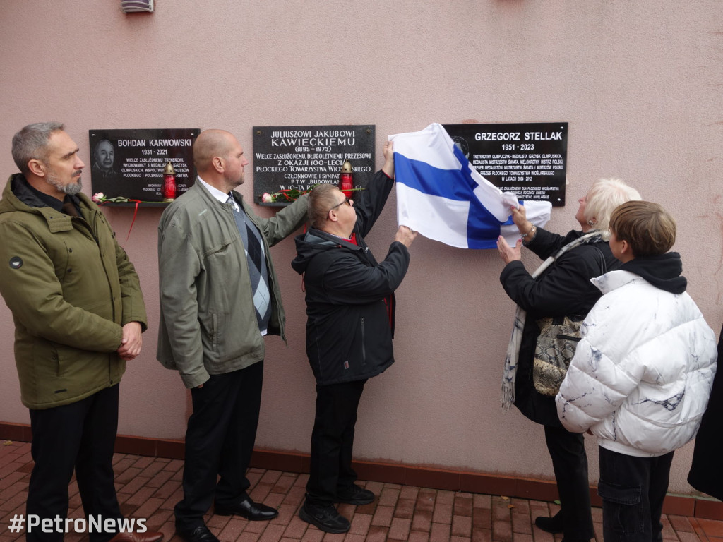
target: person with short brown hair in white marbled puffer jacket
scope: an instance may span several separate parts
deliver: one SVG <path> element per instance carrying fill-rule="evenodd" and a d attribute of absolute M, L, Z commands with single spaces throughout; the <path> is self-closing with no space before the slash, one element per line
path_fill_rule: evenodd
<path fill-rule="evenodd" d="M 716 368 L 716 340 L 685 293 L 675 221 L 650 202 L 610 220 L 623 262 L 593 283 L 604 294 L 556 397 L 568 431 L 598 437 L 605 542 L 659 540 L 673 450 L 695 436 Z"/>

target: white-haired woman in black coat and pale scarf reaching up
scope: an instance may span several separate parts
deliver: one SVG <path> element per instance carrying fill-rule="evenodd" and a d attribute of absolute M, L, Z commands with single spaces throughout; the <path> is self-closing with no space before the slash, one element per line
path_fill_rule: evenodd
<path fill-rule="evenodd" d="M 561 236 L 537 228 L 527 220 L 523 206 L 513 208 L 512 218 L 521 241 L 510 247 L 500 236 L 497 248 L 505 262 L 500 282 L 518 305 L 510 339 L 502 404 L 512 404 L 527 418 L 544 426 L 545 441 L 555 470 L 560 494 L 560 512 L 554 517 L 536 517 L 535 525 L 549 533 L 563 533 L 564 542 L 594 538 L 590 509 L 588 465 L 582 434 L 566 431 L 557 418 L 555 394 L 543 395 L 533 382 L 537 321 L 544 317 L 581 320 L 602 293 L 590 282 L 620 265 L 607 244 L 607 226 L 615 207 L 641 199 L 635 189 L 618 179 L 599 179 L 579 199 L 575 216 L 581 231 Z M 521 262 L 521 245 L 544 263 L 530 274 Z"/>

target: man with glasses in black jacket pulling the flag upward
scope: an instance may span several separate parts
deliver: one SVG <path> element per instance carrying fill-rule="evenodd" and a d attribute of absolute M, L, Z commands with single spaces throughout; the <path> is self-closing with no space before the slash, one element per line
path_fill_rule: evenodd
<path fill-rule="evenodd" d="M 416 232 L 400 226 L 381 263 L 364 242 L 394 184 L 390 142 L 384 156 L 384 167 L 356 205 L 335 186 L 312 190 L 311 228 L 296 237 L 297 256 L 291 262 L 304 274 L 307 356 L 317 381 L 311 470 L 299 517 L 327 533 L 350 528 L 335 502 L 374 501 L 371 491 L 354 484 L 356 408 L 367 379 L 394 363 L 394 291 L 406 275 L 408 247 L 416 238 Z"/>

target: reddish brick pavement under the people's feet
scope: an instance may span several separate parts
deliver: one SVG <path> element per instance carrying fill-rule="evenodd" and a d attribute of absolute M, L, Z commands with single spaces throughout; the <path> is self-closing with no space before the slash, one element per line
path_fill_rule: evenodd
<path fill-rule="evenodd" d="M 33 466 L 30 444 L 0 442 L 0 541 L 23 538 L 10 533 L 11 518 L 25 513 L 27 483 Z M 181 497 L 179 460 L 116 454 L 116 489 L 121 512 L 145 517 L 151 530 L 161 530 L 176 542 L 173 507 Z M 345 534 L 323 533 L 301 521 L 296 512 L 304 499 L 307 475 L 278 470 L 249 470 L 253 499 L 279 509 L 270 522 L 249 522 L 233 516 L 208 515 L 206 523 L 223 542 L 560 542 L 534 526 L 538 515 L 553 515 L 549 502 L 508 499 L 505 496 L 455 493 L 395 483 L 360 482 L 377 495 L 372 504 L 341 504 L 351 520 Z M 70 486 L 69 517 L 82 517 L 77 485 Z M 593 509 L 595 530 L 602 542 L 602 510 Z M 723 522 L 694 517 L 663 517 L 665 541 L 723 542 Z M 66 541 L 87 540 L 72 533 Z"/>

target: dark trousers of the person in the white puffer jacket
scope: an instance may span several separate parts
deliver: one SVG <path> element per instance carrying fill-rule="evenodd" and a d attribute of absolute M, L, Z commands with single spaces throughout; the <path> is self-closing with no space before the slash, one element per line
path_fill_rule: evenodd
<path fill-rule="evenodd" d="M 605 542 L 662 541 L 660 515 L 673 454 L 635 457 L 599 447 Z"/>

